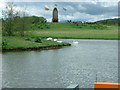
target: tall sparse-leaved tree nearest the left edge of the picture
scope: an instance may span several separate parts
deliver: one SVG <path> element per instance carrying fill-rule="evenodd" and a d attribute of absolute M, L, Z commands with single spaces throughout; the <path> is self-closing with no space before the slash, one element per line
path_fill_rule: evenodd
<path fill-rule="evenodd" d="M 14 33 L 14 17 L 17 16 L 18 12 L 14 10 L 15 5 L 13 2 L 8 2 L 6 4 L 5 10 L 2 11 L 2 30 L 3 35 L 13 35 Z"/>

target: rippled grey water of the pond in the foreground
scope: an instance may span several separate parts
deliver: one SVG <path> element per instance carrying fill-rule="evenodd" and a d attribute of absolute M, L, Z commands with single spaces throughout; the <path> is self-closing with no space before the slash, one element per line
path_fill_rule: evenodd
<path fill-rule="evenodd" d="M 61 49 L 3 53 L 4 88 L 65 88 L 79 84 L 93 88 L 96 81 L 118 82 L 116 40 L 63 40 Z M 79 41 L 73 44 L 72 41 Z"/>

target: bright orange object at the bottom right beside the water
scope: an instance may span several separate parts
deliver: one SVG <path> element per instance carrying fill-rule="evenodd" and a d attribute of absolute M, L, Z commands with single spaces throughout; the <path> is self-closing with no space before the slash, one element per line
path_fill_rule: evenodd
<path fill-rule="evenodd" d="M 120 83 L 109 83 L 109 82 L 95 82 L 94 88 L 98 89 L 114 89 L 114 90 L 120 90 Z"/>

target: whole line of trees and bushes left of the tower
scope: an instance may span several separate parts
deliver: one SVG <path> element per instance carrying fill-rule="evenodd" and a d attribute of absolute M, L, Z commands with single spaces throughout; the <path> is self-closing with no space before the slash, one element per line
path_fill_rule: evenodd
<path fill-rule="evenodd" d="M 24 36 L 25 32 L 30 29 L 31 24 L 45 23 L 46 19 L 37 16 L 27 16 L 26 8 L 17 11 L 16 5 L 13 2 L 6 4 L 5 9 L 2 11 L 2 35 L 13 36 L 19 35 Z M 32 25 L 33 26 L 33 25 Z"/>

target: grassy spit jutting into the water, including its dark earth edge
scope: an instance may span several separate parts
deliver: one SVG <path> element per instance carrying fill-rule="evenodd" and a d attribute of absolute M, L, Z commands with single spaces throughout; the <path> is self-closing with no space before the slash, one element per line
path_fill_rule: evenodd
<path fill-rule="evenodd" d="M 62 46 L 69 46 L 69 43 L 63 42 L 58 43 L 55 41 L 47 41 L 37 37 L 18 37 L 18 36 L 4 36 L 3 51 L 14 51 L 14 50 L 36 50 L 36 49 L 52 49 L 60 48 Z"/>

